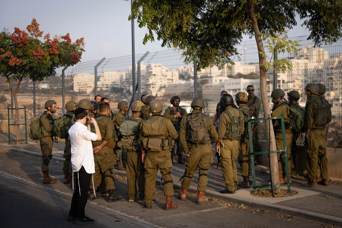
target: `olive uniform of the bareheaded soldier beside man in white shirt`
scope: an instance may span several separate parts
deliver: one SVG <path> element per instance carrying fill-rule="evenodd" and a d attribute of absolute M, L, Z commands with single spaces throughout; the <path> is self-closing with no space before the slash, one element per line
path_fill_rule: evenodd
<path fill-rule="evenodd" d="M 105 184 L 106 191 L 114 190 L 114 174 L 113 168 L 115 164 L 115 156 L 114 156 L 114 148 L 116 146 L 116 142 L 113 137 L 113 128 L 114 124 L 110 118 L 106 115 L 97 115 L 95 120 L 98 122 L 98 128 L 100 129 L 102 140 L 94 141 L 93 146 L 99 146 L 103 140 L 108 142 L 101 150 L 97 153 L 94 153 L 94 161 L 95 161 L 95 173 L 94 173 L 94 188 L 93 185 L 90 185 L 90 188 L 95 190 L 101 184 L 101 173 L 105 175 Z"/>

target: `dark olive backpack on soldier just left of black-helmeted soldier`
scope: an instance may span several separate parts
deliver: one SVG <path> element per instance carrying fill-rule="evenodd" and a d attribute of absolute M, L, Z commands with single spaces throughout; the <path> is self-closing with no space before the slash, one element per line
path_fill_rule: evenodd
<path fill-rule="evenodd" d="M 207 144 L 211 142 L 207 129 L 206 115 L 189 113 L 186 124 L 186 140 L 190 144 Z"/>

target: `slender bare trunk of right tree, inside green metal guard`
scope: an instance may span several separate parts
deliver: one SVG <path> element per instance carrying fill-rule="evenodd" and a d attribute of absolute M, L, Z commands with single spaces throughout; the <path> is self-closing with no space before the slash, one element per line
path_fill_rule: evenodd
<path fill-rule="evenodd" d="M 261 91 L 261 100 L 263 104 L 263 109 L 264 109 L 264 114 L 265 117 L 270 117 L 271 116 L 271 110 L 269 109 L 269 103 L 268 103 L 268 98 L 267 98 L 267 87 L 266 87 L 266 73 L 267 69 L 264 67 L 266 63 L 266 58 L 265 58 L 265 50 L 264 50 L 264 45 L 262 42 L 262 37 L 259 31 L 258 27 L 258 22 L 257 18 L 255 17 L 254 14 L 254 3 L 252 1 L 247 1 L 248 7 L 249 7 L 249 18 L 252 24 L 252 28 L 254 31 L 254 36 L 255 36 L 255 41 L 257 42 L 258 46 L 258 53 L 259 53 L 259 66 L 260 66 L 260 91 Z M 262 54 L 260 54 L 262 53 Z M 270 126 L 270 127 L 269 127 Z M 273 125 L 272 121 L 269 123 L 269 121 L 266 121 L 266 130 L 267 130 L 267 136 L 269 137 L 269 144 L 270 144 L 270 150 L 275 151 L 276 150 L 276 144 L 275 144 L 275 136 L 274 136 L 274 131 L 273 131 Z M 267 138 L 268 139 L 268 138 Z M 269 159 L 271 161 L 271 178 L 272 178 L 272 183 L 275 185 L 279 185 L 279 171 L 278 171 L 278 159 L 277 159 L 277 154 L 276 153 L 271 153 L 269 156 Z M 276 192 L 280 192 L 280 188 L 275 188 Z"/>

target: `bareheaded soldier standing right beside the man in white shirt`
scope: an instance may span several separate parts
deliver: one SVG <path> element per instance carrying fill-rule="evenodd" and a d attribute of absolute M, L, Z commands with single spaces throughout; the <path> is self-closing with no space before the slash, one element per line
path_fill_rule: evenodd
<path fill-rule="evenodd" d="M 107 202 L 121 200 L 122 197 L 115 194 L 115 183 L 113 168 L 115 163 L 114 147 L 116 142 L 113 137 L 114 124 L 109 118 L 110 106 L 104 102 L 100 104 L 100 114 L 95 117 L 96 123 L 101 131 L 101 141 L 93 142 L 95 161 L 94 183 L 90 185 L 89 200 L 95 200 L 95 191 L 101 184 L 101 173 L 105 175 Z"/>

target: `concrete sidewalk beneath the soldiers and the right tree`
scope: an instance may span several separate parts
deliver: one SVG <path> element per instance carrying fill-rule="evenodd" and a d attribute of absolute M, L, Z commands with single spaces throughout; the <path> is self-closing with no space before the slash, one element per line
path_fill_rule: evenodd
<path fill-rule="evenodd" d="M 11 136 L 14 137 L 14 136 Z M 8 145 L 8 133 L 0 133 L 0 151 L 10 150 L 18 153 L 25 153 L 35 157 L 41 157 L 40 146 L 38 143 L 28 139 L 28 144 Z M 53 145 L 53 160 L 63 162 L 64 142 L 61 140 Z M 214 158 L 215 161 L 215 158 Z M 174 161 L 172 169 L 173 183 L 175 188 L 180 188 L 180 177 L 184 173 L 185 165 Z M 238 165 L 237 165 L 238 166 Z M 330 182 L 329 186 L 318 185 L 317 188 L 305 188 L 300 184 L 307 180 L 301 176 L 291 178 L 291 190 L 298 194 L 288 197 L 255 197 L 250 194 L 253 187 L 240 189 L 235 194 L 221 194 L 220 190 L 225 188 L 221 168 L 216 173 L 216 165 L 209 169 L 209 181 L 206 196 L 221 199 L 227 202 L 244 204 L 264 211 L 272 211 L 281 215 L 301 217 L 329 225 L 331 227 L 342 227 L 342 183 L 338 181 Z M 269 175 L 267 167 L 256 166 L 257 185 L 267 184 Z M 116 174 L 125 176 L 126 171 L 116 171 Z M 213 182 L 215 177 L 215 182 Z M 239 181 L 242 182 L 241 172 L 238 169 Z M 157 181 L 161 176 L 158 173 Z M 198 172 L 192 179 L 189 192 L 197 193 Z M 284 187 L 286 189 L 286 187 Z"/>

